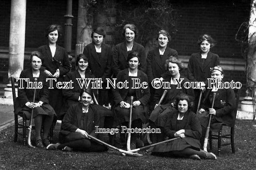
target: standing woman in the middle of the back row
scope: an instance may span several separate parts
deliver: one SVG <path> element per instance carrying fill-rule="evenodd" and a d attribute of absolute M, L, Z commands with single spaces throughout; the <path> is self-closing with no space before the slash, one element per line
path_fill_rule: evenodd
<path fill-rule="evenodd" d="M 137 36 L 138 30 L 134 24 L 126 24 L 123 27 L 122 35 L 125 38 L 125 41 L 117 44 L 112 50 L 112 71 L 114 77 L 117 74 L 127 68 L 127 55 L 128 51 L 136 51 L 140 58 L 140 70 L 146 73 L 146 54 L 144 47 L 136 42 L 134 42 L 135 36 Z"/>

